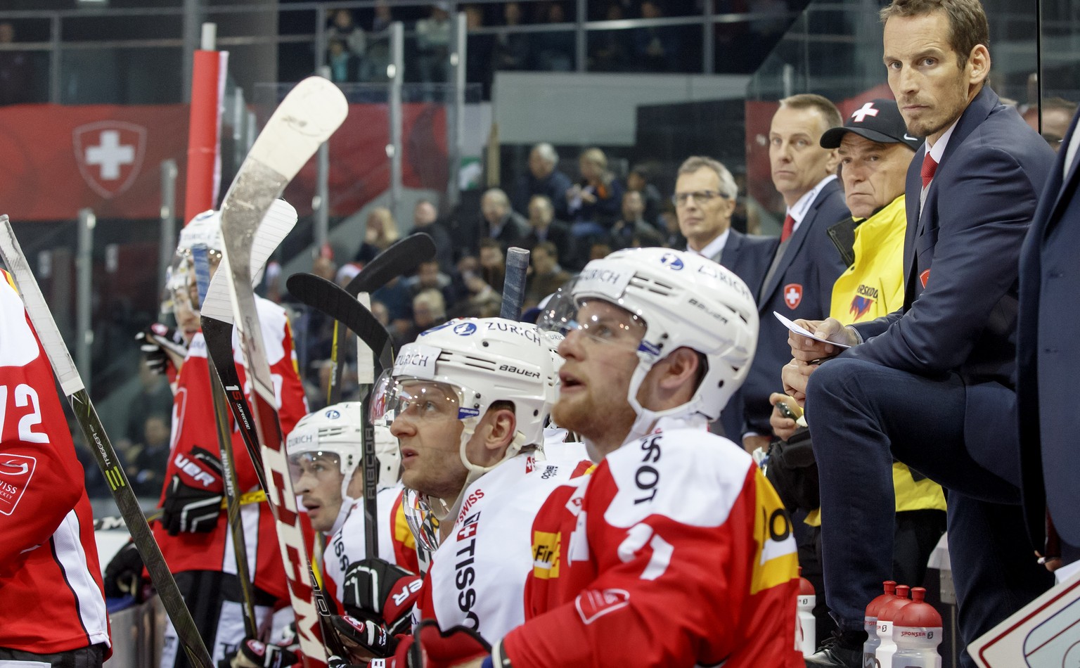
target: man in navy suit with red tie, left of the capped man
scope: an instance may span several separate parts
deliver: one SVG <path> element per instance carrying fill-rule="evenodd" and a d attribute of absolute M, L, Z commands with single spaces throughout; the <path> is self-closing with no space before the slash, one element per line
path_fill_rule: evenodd
<path fill-rule="evenodd" d="M 791 359 L 787 330 L 772 315 L 821 319 L 828 315 L 833 283 L 843 260 L 828 227 L 851 214 L 835 175 L 836 150 L 822 148 L 821 135 L 842 125 L 840 112 L 821 95 L 793 95 L 780 101 L 769 128 L 772 183 L 787 213 L 780 248 L 756 294 L 760 331 L 754 365 L 742 387 L 743 447 L 767 447 L 772 428 L 769 396 L 781 388 L 780 370 Z"/>

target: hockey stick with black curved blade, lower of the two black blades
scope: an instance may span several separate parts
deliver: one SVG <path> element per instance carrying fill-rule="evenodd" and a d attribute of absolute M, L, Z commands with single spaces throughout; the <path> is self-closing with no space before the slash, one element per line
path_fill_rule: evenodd
<path fill-rule="evenodd" d="M 381 369 L 393 364 L 388 345 L 390 336 L 382 323 L 343 288 L 312 273 L 294 273 L 285 281 L 285 286 L 300 303 L 326 313 L 334 319 L 335 323 L 352 330 L 373 352 L 379 351 L 375 366 L 380 369 L 373 369 L 373 375 L 378 375 Z M 379 556 L 378 503 L 376 500 L 379 467 L 375 458 L 375 427 L 368 418 L 370 395 L 370 391 L 365 392 L 361 400 L 361 424 L 364 425 L 364 447 L 361 463 L 364 469 L 364 551 L 368 559 Z"/>

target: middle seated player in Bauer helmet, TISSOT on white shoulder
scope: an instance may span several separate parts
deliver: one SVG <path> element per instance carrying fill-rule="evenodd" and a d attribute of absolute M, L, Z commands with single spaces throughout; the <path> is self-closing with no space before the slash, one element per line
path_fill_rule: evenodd
<path fill-rule="evenodd" d="M 573 470 L 539 455 L 554 398 L 548 346 L 532 324 L 453 320 L 403 347 L 380 386 L 373 420 L 391 423 L 402 481 L 440 520 L 418 617 L 498 639 L 524 620 L 532 518 Z"/>

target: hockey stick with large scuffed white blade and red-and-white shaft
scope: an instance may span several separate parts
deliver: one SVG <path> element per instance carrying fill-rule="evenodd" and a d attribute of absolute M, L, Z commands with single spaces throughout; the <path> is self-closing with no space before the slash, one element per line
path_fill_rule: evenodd
<path fill-rule="evenodd" d="M 252 244 L 262 216 L 319 146 L 348 112 L 345 95 L 333 83 L 309 77 L 294 88 L 270 117 L 240 166 L 221 203 L 225 258 L 232 275 L 230 296 L 252 384 L 252 408 L 267 473 L 267 496 L 278 527 L 278 544 L 289 582 L 289 599 L 306 666 L 326 664 L 312 583 L 305 571 L 308 551 L 293 491 L 288 460 L 252 289 Z"/>

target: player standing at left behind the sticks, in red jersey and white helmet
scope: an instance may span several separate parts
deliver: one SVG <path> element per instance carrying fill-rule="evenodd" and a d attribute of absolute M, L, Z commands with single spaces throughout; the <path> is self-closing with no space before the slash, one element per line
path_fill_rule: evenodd
<path fill-rule="evenodd" d="M 212 271 L 221 257 L 220 214 L 199 214 L 180 232 L 177 270 L 174 272 L 174 309 L 177 329 L 190 337 L 187 357 L 177 376 L 173 404 L 173 437 L 160 523 L 154 537 L 176 576 L 195 625 L 215 662 L 225 657 L 244 638 L 242 598 L 237 579 L 235 557 L 221 508 L 224 479 L 210 387 L 206 344 L 199 330 L 198 293 L 190 270 L 190 251 L 197 244 L 210 251 Z M 257 299 L 267 360 L 273 377 L 282 432 L 288 435 L 307 414 L 303 387 L 296 371 L 293 337 L 285 311 Z M 233 334 L 233 349 L 239 350 Z M 234 359 L 240 359 L 234 355 Z M 241 383 L 244 368 L 238 363 Z M 259 489 L 258 478 L 240 433 L 233 435 L 233 455 L 239 492 Z M 245 527 L 248 569 L 255 586 L 256 616 L 265 622 L 288 600 L 287 580 L 269 506 L 252 504 L 241 509 Z M 266 624 L 269 626 L 269 623 Z M 166 627 L 162 668 L 187 666 L 177 651 L 175 631 Z"/>

